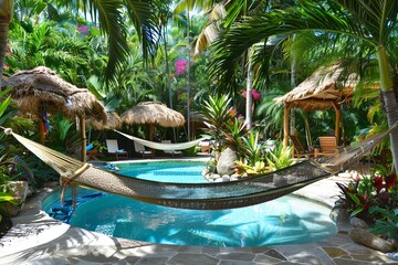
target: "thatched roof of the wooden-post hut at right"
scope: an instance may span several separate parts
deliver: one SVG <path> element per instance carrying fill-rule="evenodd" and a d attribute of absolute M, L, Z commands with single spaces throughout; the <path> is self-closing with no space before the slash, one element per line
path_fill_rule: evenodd
<path fill-rule="evenodd" d="M 294 89 L 274 100 L 291 108 L 325 110 L 333 104 L 350 100 L 357 82 L 357 75 L 347 74 L 342 62 L 337 62 L 320 67 Z"/>

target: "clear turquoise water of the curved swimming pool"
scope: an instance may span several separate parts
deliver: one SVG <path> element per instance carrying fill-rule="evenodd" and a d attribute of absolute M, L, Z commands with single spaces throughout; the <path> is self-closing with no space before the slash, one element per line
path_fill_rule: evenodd
<path fill-rule="evenodd" d="M 122 165 L 121 173 L 166 182 L 203 182 L 202 163 Z M 133 172 L 133 173 L 132 173 Z M 179 181 L 178 181 L 179 180 Z M 182 210 L 80 189 L 72 212 L 71 195 L 61 205 L 59 192 L 43 209 L 74 226 L 151 243 L 209 246 L 301 244 L 336 234 L 327 206 L 294 195 L 231 210 Z"/>

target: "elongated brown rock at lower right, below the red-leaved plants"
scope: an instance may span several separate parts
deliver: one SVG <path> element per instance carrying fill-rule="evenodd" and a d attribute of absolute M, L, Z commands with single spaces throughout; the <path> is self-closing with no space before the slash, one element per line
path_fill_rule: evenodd
<path fill-rule="evenodd" d="M 366 245 L 376 251 L 380 251 L 384 253 L 395 251 L 394 244 L 367 232 L 364 229 L 356 229 L 356 227 L 352 229 L 349 231 L 349 237 L 353 241 Z"/>

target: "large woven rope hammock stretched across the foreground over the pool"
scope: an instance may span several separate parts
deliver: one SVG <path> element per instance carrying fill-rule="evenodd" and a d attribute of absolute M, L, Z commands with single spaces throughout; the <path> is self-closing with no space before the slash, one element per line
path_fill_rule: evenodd
<path fill-rule="evenodd" d="M 220 183 L 166 183 L 130 178 L 73 159 L 13 134 L 10 129 L 6 129 L 6 134 L 14 136 L 30 151 L 56 170 L 63 183 L 77 184 L 158 205 L 214 210 L 270 201 L 337 173 L 344 162 L 368 153 L 397 127 L 398 124 L 358 145 L 346 147 L 339 155 L 328 159 L 326 166 L 305 160 L 266 174 Z"/>

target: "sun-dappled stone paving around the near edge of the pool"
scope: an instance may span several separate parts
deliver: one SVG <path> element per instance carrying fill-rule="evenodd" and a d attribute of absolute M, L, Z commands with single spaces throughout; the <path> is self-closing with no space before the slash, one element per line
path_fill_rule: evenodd
<path fill-rule="evenodd" d="M 297 192 L 334 205 L 339 194 L 336 182 L 349 174 L 317 181 Z M 386 254 L 354 243 L 349 225 L 337 220 L 339 232 L 320 242 L 263 247 L 176 246 L 111 237 L 74 227 L 50 218 L 41 202 L 52 189 L 29 198 L 12 229 L 0 239 L 0 264 L 40 265 L 260 265 L 260 264 L 398 264 Z"/>

